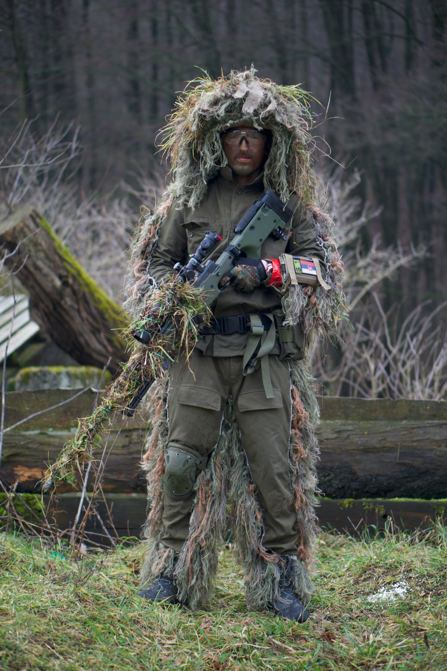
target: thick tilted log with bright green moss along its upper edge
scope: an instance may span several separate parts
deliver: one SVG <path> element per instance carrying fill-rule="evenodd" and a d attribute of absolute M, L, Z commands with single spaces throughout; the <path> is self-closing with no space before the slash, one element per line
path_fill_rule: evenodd
<path fill-rule="evenodd" d="M 85 366 L 116 374 L 127 360 L 119 335 L 126 317 L 85 272 L 38 211 L 26 205 L 0 223 L 0 244 L 12 252 L 18 277 L 29 292 L 31 317 L 64 352 Z"/>

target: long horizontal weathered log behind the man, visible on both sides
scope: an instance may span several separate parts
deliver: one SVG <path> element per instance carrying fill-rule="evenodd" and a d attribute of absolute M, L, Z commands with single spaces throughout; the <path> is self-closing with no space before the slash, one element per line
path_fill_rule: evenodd
<path fill-rule="evenodd" d="M 73 389 L 8 392 L 6 423 L 55 405 L 74 395 Z M 54 462 L 76 431 L 76 417 L 88 415 L 94 393 L 38 415 L 7 431 L 1 476 L 17 491 L 33 491 L 48 459 Z M 447 403 L 445 401 L 365 401 L 322 397 L 318 429 L 320 488 L 333 499 L 447 498 Z M 147 420 L 141 413 L 123 421 L 117 415 L 109 446 L 104 489 L 111 493 L 145 491 L 139 470 Z M 70 491 L 70 487 L 60 491 Z"/>

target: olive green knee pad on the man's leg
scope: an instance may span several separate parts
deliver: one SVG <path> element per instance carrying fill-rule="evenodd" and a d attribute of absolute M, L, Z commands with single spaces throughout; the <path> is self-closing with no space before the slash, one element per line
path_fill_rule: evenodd
<path fill-rule="evenodd" d="M 171 499 L 188 499 L 192 494 L 198 472 L 208 461 L 192 448 L 168 445 L 164 451 L 165 472 L 162 477 L 163 491 Z"/>

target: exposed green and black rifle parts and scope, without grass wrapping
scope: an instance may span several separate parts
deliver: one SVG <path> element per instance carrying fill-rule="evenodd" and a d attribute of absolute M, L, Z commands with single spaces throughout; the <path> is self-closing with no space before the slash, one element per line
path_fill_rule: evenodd
<path fill-rule="evenodd" d="M 192 282 L 194 287 L 201 287 L 205 292 L 204 303 L 208 306 L 212 305 L 220 291 L 223 291 L 218 288 L 220 280 L 233 268 L 235 263 L 260 259 L 261 245 L 264 240 L 269 236 L 274 240 L 283 237 L 283 228 L 292 219 L 293 214 L 292 210 L 284 205 L 273 191 L 267 190 L 259 201 L 255 201 L 249 207 L 239 221 L 235 227 L 235 238 L 231 240 L 216 262 L 208 260 L 202 265 L 221 240 L 216 233 L 205 231 L 204 239 L 196 252 L 191 254 L 186 266 L 180 263 L 174 266 L 174 270 L 178 272 L 176 279 L 179 282 Z M 284 237 L 287 239 L 287 236 Z M 160 334 L 165 335 L 171 329 L 172 322 L 168 319 L 161 328 L 157 325 L 154 335 L 150 331 L 150 323 L 147 324 L 147 329 L 138 329 L 132 335 L 135 340 L 147 345 L 153 337 Z M 152 382 L 153 378 L 141 384 L 137 395 L 125 410 L 127 417 L 133 416 Z"/>

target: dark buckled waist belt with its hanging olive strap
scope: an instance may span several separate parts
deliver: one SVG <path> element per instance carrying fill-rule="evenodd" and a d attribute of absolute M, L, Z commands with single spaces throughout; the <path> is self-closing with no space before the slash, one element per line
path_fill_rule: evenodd
<path fill-rule="evenodd" d="M 275 336 L 281 342 L 294 342 L 294 331 L 291 328 L 277 327 L 275 316 L 271 313 L 259 315 L 231 315 L 229 317 L 212 317 L 208 326 L 200 327 L 201 317 L 194 321 L 202 335 L 233 335 L 234 333 L 250 333 L 243 358 L 243 374 L 253 373 L 258 362 L 261 362 L 262 381 L 265 396 L 273 399 L 271 386 L 269 353 L 275 345 Z"/>

